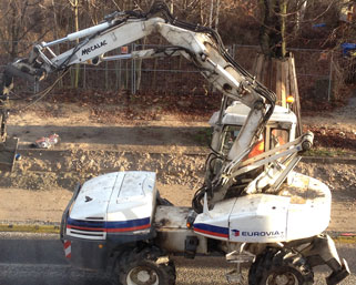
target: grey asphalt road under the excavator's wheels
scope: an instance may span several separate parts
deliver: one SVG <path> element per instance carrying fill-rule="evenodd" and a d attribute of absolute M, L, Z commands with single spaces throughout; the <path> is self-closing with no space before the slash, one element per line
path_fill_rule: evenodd
<path fill-rule="evenodd" d="M 354 272 L 342 285 L 356 284 L 356 244 L 337 244 Z M 176 285 L 227 284 L 233 268 L 220 257 L 175 258 Z M 246 273 L 246 271 L 244 271 Z M 316 268 L 315 284 L 324 285 L 326 267 Z M 110 274 L 79 271 L 67 263 L 58 235 L 0 234 L 0 285 L 109 285 Z M 246 283 L 247 284 L 247 283 Z"/>

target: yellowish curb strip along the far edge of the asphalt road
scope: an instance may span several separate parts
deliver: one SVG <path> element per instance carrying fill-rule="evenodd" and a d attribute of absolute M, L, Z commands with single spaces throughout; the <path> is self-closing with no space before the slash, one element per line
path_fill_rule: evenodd
<path fill-rule="evenodd" d="M 31 234 L 59 234 L 60 224 L 28 224 L 28 223 L 2 223 L 0 224 L 1 232 L 13 232 L 13 233 L 31 233 Z M 356 233 L 344 233 L 344 232 L 329 232 L 326 231 L 335 242 L 345 244 L 356 243 Z"/>

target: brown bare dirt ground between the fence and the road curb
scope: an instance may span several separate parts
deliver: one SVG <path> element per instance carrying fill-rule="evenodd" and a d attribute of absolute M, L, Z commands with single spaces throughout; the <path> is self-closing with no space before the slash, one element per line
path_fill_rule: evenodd
<path fill-rule="evenodd" d="M 206 121 L 213 109 L 190 112 L 191 103 L 184 99 L 172 108 L 143 100 L 140 113 L 130 102 L 98 108 L 92 101 L 52 99 L 12 114 L 8 133 L 20 139 L 21 160 L 12 173 L 0 173 L 0 221 L 58 222 L 78 182 L 124 170 L 155 171 L 161 195 L 190 205 L 202 183 Z M 329 146 L 334 151 L 327 155 L 356 156 L 355 108 L 356 96 L 327 115 L 303 118 L 304 130 L 316 133 L 317 149 Z M 60 135 L 60 144 L 48 151 L 30 147 L 51 133 Z M 330 187 L 329 230 L 356 232 L 356 222 L 349 218 L 356 210 L 356 165 L 299 163 L 297 170 Z"/>

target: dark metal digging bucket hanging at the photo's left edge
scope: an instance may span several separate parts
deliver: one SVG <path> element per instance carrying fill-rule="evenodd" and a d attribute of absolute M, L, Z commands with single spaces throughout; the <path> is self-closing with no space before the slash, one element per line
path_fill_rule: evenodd
<path fill-rule="evenodd" d="M 0 143 L 0 172 L 11 172 L 18 150 L 18 138 L 7 138 Z"/>

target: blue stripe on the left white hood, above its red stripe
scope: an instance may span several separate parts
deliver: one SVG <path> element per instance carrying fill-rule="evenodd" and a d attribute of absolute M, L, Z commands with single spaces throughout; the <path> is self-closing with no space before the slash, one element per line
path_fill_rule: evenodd
<path fill-rule="evenodd" d="M 130 221 L 120 222 L 96 222 L 96 221 L 82 221 L 68 217 L 68 225 L 82 226 L 82 227 L 94 227 L 94 228 L 125 228 L 133 226 L 141 226 L 150 224 L 150 217 L 136 218 Z"/>

